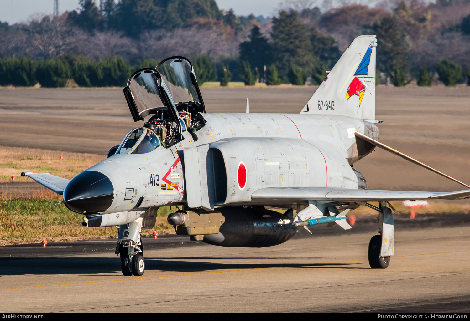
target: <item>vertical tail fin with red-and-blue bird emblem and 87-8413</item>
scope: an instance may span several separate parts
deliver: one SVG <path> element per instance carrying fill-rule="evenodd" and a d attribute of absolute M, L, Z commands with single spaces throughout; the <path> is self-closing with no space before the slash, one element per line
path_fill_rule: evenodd
<path fill-rule="evenodd" d="M 300 113 L 375 119 L 376 46 L 375 35 L 355 38 Z"/>

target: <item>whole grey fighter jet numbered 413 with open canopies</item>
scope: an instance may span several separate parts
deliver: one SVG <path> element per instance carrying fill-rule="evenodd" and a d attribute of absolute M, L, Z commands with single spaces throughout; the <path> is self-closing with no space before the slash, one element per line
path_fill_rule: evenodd
<path fill-rule="evenodd" d="M 176 234 L 235 247 L 278 245 L 321 223 L 351 229 L 346 214 L 369 206 L 378 213 L 369 264 L 386 268 L 394 252 L 390 201 L 465 199 L 470 186 L 377 141 L 376 41 L 354 39 L 299 114 L 248 113 L 248 106 L 247 113 L 206 113 L 190 61 L 167 58 L 130 77 L 124 96 L 134 121 L 144 123 L 105 160 L 70 181 L 22 175 L 63 195 L 84 227 L 119 226 L 124 275 L 143 274 L 140 233 L 154 227 L 160 206 L 180 206 L 168 216 Z M 352 164 L 376 147 L 469 189 L 368 190 Z"/>

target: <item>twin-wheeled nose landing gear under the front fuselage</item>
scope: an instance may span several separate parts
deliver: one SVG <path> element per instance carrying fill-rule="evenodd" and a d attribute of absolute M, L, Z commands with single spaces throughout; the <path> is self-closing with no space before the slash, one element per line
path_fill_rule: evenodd
<path fill-rule="evenodd" d="M 130 222 L 119 228 L 118 245 L 116 254 L 121 258 L 122 274 L 126 276 L 144 274 L 145 261 L 141 240 L 141 223 Z"/>

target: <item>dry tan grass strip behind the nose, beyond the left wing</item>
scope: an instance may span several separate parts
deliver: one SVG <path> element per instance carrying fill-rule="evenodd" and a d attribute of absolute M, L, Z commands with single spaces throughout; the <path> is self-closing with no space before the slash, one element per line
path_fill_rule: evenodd
<path fill-rule="evenodd" d="M 21 172 L 51 173 L 71 179 L 104 158 L 97 154 L 0 146 L 0 183 L 32 182 L 31 178 L 20 176 Z M 15 180 L 11 179 L 12 175 L 16 176 Z"/>

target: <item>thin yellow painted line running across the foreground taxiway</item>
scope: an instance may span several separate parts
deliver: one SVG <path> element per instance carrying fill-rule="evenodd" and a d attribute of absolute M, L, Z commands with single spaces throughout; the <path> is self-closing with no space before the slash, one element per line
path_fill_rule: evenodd
<path fill-rule="evenodd" d="M 411 256 L 437 255 L 437 254 L 459 253 L 459 252 L 470 252 L 470 250 L 448 251 L 448 252 L 435 252 L 435 253 L 422 253 L 422 254 L 411 254 L 411 255 L 400 255 L 400 256 L 394 256 L 394 258 L 406 258 L 406 257 L 411 257 Z M 356 260 L 343 260 L 343 261 L 320 262 L 320 263 L 315 263 L 315 264 L 333 264 L 333 263 L 345 263 L 345 262 L 366 261 L 366 260 L 368 260 L 368 259 L 356 259 Z M 103 280 L 103 281 L 89 281 L 89 282 L 79 282 L 79 283 L 62 283 L 62 284 L 46 284 L 46 285 L 36 285 L 36 286 L 25 286 L 25 287 L 20 287 L 20 288 L 0 289 L 0 291 L 5 291 L 5 290 L 34 289 L 34 288 L 46 288 L 46 287 L 51 287 L 51 286 L 79 285 L 79 284 L 92 284 L 92 283 L 107 283 L 107 282 L 120 282 L 120 281 L 134 281 L 134 280 L 148 280 L 148 279 L 158 279 L 158 278 L 163 278 L 163 277 L 174 277 L 174 276 L 206 275 L 206 274 L 227 273 L 227 272 L 255 271 L 255 270 L 265 270 L 265 269 L 268 269 L 268 268 L 277 268 L 277 267 L 257 267 L 257 268 L 247 268 L 247 269 L 228 270 L 228 271 L 215 271 L 215 272 L 202 272 L 202 273 L 188 273 L 188 274 L 174 274 L 174 275 L 148 276 L 148 277 L 138 277 L 138 278 L 132 278 L 132 279 Z"/>

